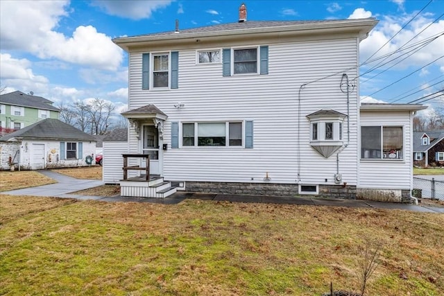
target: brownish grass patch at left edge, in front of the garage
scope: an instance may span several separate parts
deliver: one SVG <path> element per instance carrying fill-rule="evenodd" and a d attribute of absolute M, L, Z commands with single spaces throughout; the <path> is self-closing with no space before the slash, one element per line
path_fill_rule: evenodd
<path fill-rule="evenodd" d="M 36 171 L 0 171 L 0 191 L 10 191 L 56 183 Z"/>

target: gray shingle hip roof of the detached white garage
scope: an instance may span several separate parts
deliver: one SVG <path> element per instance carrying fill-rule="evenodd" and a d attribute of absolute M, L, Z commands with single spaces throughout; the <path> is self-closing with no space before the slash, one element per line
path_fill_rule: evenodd
<path fill-rule="evenodd" d="M 43 139 L 43 140 L 72 140 L 72 141 L 96 141 L 91 134 L 82 132 L 74 126 L 58 119 L 44 119 L 26 126 L 16 132 L 6 134 L 0 141 L 8 141 L 13 138 Z"/>

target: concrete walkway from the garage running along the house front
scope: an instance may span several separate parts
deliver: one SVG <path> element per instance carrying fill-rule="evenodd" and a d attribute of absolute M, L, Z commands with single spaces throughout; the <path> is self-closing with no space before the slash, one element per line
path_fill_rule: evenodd
<path fill-rule="evenodd" d="M 128 198 L 122 196 L 103 197 L 90 195 L 76 195 L 72 192 L 93 188 L 103 185 L 102 181 L 97 180 L 78 180 L 68 177 L 54 171 L 38 171 L 43 175 L 56 180 L 56 184 L 36 186 L 26 189 L 17 189 L 5 191 L 2 194 L 8 195 L 34 195 L 34 196 L 52 196 L 57 198 L 76 198 L 78 200 L 101 200 L 105 202 L 151 202 L 159 204 L 178 204 L 186 199 L 200 200 L 220 200 L 230 202 L 264 202 L 273 204 L 305 204 L 314 206 L 332 206 L 332 207 L 361 207 L 375 209 L 404 209 L 407 211 L 421 211 L 427 213 L 444 214 L 444 207 L 430 207 L 415 204 L 400 204 L 394 202 L 372 202 L 368 200 L 341 200 L 336 198 L 311 198 L 289 197 L 289 196 L 264 196 L 264 195 L 225 195 L 212 193 L 191 193 L 178 191 L 168 198 Z"/>

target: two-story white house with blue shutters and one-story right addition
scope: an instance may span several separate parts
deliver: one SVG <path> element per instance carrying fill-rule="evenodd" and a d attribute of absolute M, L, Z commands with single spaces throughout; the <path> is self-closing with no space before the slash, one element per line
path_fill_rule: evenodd
<path fill-rule="evenodd" d="M 188 191 L 409 200 L 422 106 L 359 102 L 359 42 L 376 24 L 247 21 L 241 6 L 237 23 L 115 39 L 129 55 L 128 153 Z M 151 194 L 135 180 L 122 195 Z"/>

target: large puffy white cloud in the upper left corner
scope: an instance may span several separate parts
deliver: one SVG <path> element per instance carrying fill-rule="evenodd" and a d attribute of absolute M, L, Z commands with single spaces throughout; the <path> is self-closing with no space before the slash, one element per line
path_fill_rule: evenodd
<path fill-rule="evenodd" d="M 42 59 L 56 58 L 99 69 L 117 69 L 123 60 L 123 51 L 93 26 L 78 26 L 72 37 L 55 31 L 60 17 L 67 16 L 66 5 L 66 1 L 2 1 L 2 50 L 18 49 Z"/>

